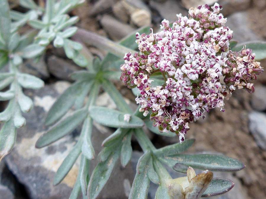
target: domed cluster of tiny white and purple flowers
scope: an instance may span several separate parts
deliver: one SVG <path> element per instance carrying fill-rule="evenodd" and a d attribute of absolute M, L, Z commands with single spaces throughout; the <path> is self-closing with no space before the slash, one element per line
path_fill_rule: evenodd
<path fill-rule="evenodd" d="M 224 111 L 224 99 L 236 88 L 254 92 L 250 81 L 263 72 L 252 50 L 230 50 L 233 31 L 219 14 L 221 6 L 211 8 L 191 8 L 189 17 L 177 15 L 172 27 L 164 19 L 158 33 L 137 33 L 140 52 L 126 54 L 121 65 L 121 80 L 140 90 L 136 101 L 143 115 L 151 110 L 153 125 L 175 132 L 180 142 L 190 122 L 204 118 L 211 108 Z M 165 83 L 152 86 L 150 76 L 157 72 Z"/>

